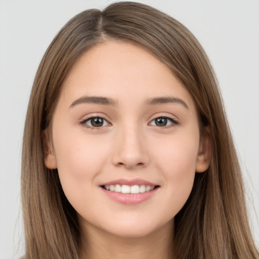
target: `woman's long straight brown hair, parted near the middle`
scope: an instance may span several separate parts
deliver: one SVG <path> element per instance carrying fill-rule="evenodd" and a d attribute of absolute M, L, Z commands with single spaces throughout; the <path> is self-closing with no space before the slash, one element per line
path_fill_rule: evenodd
<path fill-rule="evenodd" d="M 258 258 L 245 207 L 241 170 L 211 64 L 192 33 L 147 5 L 122 2 L 84 11 L 61 29 L 38 67 L 25 122 L 22 204 L 25 258 L 78 259 L 80 229 L 57 170 L 44 164 L 42 132 L 50 129 L 62 82 L 77 58 L 105 40 L 134 42 L 166 64 L 210 125 L 211 164 L 195 176 L 175 217 L 175 258 Z"/>

